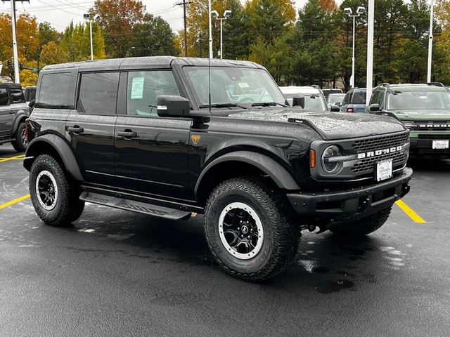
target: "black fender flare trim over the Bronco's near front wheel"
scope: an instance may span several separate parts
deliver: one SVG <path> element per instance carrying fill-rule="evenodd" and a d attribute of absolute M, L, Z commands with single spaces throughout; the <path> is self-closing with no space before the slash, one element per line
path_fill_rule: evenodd
<path fill-rule="evenodd" d="M 257 152 L 236 151 L 224 154 L 223 156 L 211 161 L 210 164 L 207 164 L 202 173 L 200 173 L 200 176 L 197 179 L 197 183 L 195 183 L 195 199 L 198 199 L 198 189 L 200 187 L 200 184 L 203 182 L 203 177 L 205 177 L 210 169 L 212 169 L 217 164 L 223 163 L 224 161 L 243 161 L 244 163 L 251 164 L 266 173 L 281 189 L 300 190 L 300 186 L 295 182 L 290 173 L 274 159 L 271 159 L 270 157 L 267 157 L 264 154 L 259 154 Z"/>

